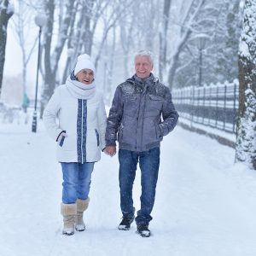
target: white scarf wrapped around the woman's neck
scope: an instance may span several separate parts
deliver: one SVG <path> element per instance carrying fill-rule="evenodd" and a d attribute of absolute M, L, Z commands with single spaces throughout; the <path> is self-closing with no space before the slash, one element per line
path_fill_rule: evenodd
<path fill-rule="evenodd" d="M 94 81 L 91 84 L 83 84 L 68 77 L 66 86 L 70 94 L 77 99 L 88 100 L 92 98 L 96 92 L 96 84 Z"/>

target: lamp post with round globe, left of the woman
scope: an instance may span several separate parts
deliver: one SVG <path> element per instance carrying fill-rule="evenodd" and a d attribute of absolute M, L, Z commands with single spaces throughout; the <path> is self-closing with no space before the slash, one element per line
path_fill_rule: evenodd
<path fill-rule="evenodd" d="M 38 123 L 38 116 L 37 116 L 37 104 L 38 104 L 38 72 L 39 72 L 39 65 L 40 65 L 40 48 L 41 48 L 41 32 L 42 26 L 45 25 L 47 21 L 47 17 L 42 14 L 38 14 L 35 17 L 35 23 L 39 26 L 39 33 L 38 33 L 38 69 L 37 69 L 37 84 L 36 84 L 36 96 L 35 96 L 35 108 L 33 113 L 32 119 L 32 132 L 37 132 L 37 123 Z"/>

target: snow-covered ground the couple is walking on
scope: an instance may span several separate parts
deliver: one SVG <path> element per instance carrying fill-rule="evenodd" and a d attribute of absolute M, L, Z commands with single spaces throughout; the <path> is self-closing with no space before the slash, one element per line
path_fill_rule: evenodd
<path fill-rule="evenodd" d="M 255 256 L 256 172 L 235 149 L 180 126 L 161 144 L 152 236 L 118 230 L 119 163 L 102 154 L 90 187 L 86 230 L 62 236 L 61 168 L 42 120 L 0 123 L 0 255 Z M 140 170 L 134 202 L 140 208 Z"/>

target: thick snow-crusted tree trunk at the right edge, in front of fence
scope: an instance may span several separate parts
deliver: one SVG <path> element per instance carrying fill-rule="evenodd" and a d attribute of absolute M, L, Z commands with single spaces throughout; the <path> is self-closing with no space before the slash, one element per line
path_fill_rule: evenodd
<path fill-rule="evenodd" d="M 247 0 L 239 45 L 236 161 L 256 170 L 256 1 Z"/>

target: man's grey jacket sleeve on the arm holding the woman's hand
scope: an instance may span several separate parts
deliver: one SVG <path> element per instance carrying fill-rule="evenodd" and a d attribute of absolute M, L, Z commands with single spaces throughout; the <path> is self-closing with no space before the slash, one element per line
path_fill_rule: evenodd
<path fill-rule="evenodd" d="M 121 97 L 121 88 L 118 86 L 113 96 L 112 106 L 108 114 L 106 130 L 106 146 L 115 146 L 117 132 L 123 115 L 123 103 Z"/>

